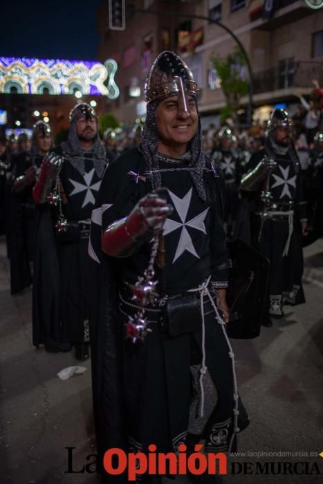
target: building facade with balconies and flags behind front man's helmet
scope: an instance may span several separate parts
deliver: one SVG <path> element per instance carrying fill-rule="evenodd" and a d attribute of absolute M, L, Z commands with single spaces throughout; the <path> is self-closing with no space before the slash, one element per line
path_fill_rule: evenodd
<path fill-rule="evenodd" d="M 98 59 L 111 57 L 118 63 L 120 97 L 107 100 L 106 109 L 124 123 L 145 116 L 143 86 L 149 66 L 158 53 L 170 49 L 185 59 L 201 88 L 203 124 L 219 124 L 226 101 L 212 59 L 232 54 L 237 44 L 221 26 L 189 15 L 220 21 L 243 44 L 254 77 L 255 118 L 268 118 L 277 104 L 293 110 L 298 96 L 313 90 L 312 80 L 323 85 L 323 9 L 311 10 L 305 0 L 133 0 L 126 5 L 124 31 L 109 30 L 107 1 L 98 15 Z M 130 14 L 129 6 L 176 15 Z M 241 75 L 248 77 L 243 66 Z M 243 122 L 248 97 L 242 97 L 240 104 Z"/>

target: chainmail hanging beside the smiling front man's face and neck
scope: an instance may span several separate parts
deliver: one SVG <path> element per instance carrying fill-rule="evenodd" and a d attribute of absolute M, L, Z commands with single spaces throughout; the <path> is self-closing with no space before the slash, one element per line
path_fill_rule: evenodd
<path fill-rule="evenodd" d="M 151 101 L 147 104 L 147 115 L 142 129 L 142 138 L 139 145 L 140 152 L 145 158 L 147 168 L 152 173 L 148 175 L 153 190 L 161 187 L 161 175 L 159 171 L 158 156 L 158 132 L 155 124 L 155 112 L 160 100 Z M 190 160 L 188 166 L 192 168 L 190 176 L 196 187 L 199 197 L 206 201 L 205 187 L 203 183 L 203 171 L 205 169 L 205 157 L 201 148 L 201 120 L 199 116 L 199 127 L 190 141 Z"/>

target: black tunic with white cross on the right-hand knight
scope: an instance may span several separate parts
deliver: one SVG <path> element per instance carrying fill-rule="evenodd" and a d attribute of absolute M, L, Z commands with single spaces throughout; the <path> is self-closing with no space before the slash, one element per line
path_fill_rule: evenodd
<path fill-rule="evenodd" d="M 254 169 L 264 158 L 265 150 L 254 153 L 250 158 L 248 170 Z M 270 153 L 273 156 L 272 153 Z M 289 153 L 276 154 L 277 166 L 270 176 L 270 212 L 277 212 L 261 223 L 259 212 L 262 210 L 260 195 L 264 184 L 249 196 L 251 209 L 252 245 L 255 246 L 271 263 L 269 295 L 277 315 L 280 315 L 284 297 L 290 304 L 304 302 L 302 289 L 303 254 L 300 222 L 306 220 L 306 203 L 302 192 L 302 181 L 299 174 L 299 163 L 290 158 Z M 290 209 L 288 209 L 290 205 Z M 279 212 L 290 210 L 291 218 L 279 215 Z M 290 234 L 290 224 L 293 232 Z M 260 237 L 260 240 L 259 240 Z M 288 248 L 288 239 L 289 248 Z M 286 245 L 287 244 L 287 245 Z M 284 250 L 287 254 L 284 254 Z M 280 309 L 278 310 L 278 306 Z"/>

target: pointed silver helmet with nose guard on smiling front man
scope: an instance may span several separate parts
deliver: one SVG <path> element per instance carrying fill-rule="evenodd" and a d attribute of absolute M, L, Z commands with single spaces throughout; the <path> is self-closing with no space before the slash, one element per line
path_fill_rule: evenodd
<path fill-rule="evenodd" d="M 181 57 L 169 50 L 158 55 L 145 82 L 147 103 L 178 95 L 179 111 L 188 113 L 188 96 L 196 97 L 198 91 L 192 71 Z"/>

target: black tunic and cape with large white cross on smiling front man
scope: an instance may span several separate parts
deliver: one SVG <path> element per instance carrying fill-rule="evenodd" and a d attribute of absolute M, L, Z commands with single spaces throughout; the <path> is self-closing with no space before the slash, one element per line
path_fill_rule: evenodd
<path fill-rule="evenodd" d="M 136 281 L 147 267 L 149 243 L 131 257 L 114 259 L 102 253 L 101 234 L 113 221 L 127 216 L 151 191 L 147 177 L 136 179 L 129 174 L 133 171 L 145 176 L 145 166 L 138 149 L 127 151 L 111 163 L 92 216 L 89 254 L 95 274 L 91 311 L 93 405 L 100 456 L 111 447 L 145 452 L 150 443 L 156 444 L 160 452 L 176 450 L 189 422 L 190 366 L 196 363 L 192 358 L 201 362 L 201 329 L 170 337 L 155 324 L 143 344 L 124 341 L 127 317 L 118 308 L 118 292 L 122 281 Z M 160 163 L 160 169 L 166 167 Z M 211 169 L 205 173 L 207 201 L 203 202 L 187 171 L 162 174 L 169 203 L 174 206 L 164 225 L 169 294 L 196 288 L 208 275 L 220 283 L 228 278 L 222 224 L 223 176 L 216 171 L 215 175 Z M 225 449 L 232 435 L 232 362 L 214 315 L 205 317 L 205 332 L 207 368 L 220 397 L 204 437 L 212 449 L 216 447 L 214 435 L 223 430 L 227 439 L 220 439 L 217 445 Z M 120 476 L 120 481 L 113 477 L 111 482 L 126 481 Z"/>

